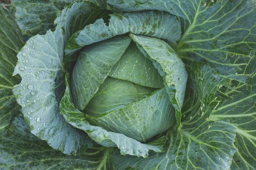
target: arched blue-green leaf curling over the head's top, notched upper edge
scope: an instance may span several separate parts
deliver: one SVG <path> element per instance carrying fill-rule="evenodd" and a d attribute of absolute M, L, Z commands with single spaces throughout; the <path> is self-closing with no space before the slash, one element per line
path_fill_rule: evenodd
<path fill-rule="evenodd" d="M 142 11 L 110 16 L 108 26 L 103 19 L 100 19 L 73 34 L 65 49 L 65 60 L 82 47 L 115 35 L 127 33 L 150 35 L 163 38 L 173 45 L 180 38 L 181 31 L 177 18 L 166 12 Z M 75 59 L 71 57 L 68 60 Z"/>

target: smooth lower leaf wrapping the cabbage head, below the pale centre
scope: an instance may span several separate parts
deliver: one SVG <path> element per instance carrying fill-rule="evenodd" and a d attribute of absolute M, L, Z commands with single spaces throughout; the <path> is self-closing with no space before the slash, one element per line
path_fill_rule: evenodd
<path fill-rule="evenodd" d="M 129 82 L 131 83 L 131 82 Z M 175 109 L 164 88 L 122 105 L 88 121 L 103 129 L 146 142 L 175 122 Z"/>

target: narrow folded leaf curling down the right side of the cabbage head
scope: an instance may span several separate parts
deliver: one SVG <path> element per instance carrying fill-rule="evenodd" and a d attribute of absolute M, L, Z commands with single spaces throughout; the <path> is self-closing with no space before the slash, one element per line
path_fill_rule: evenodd
<path fill-rule="evenodd" d="M 176 52 L 163 40 L 130 34 L 140 51 L 151 60 L 163 78 L 169 99 L 176 110 L 177 127 L 181 128 L 181 108 L 188 73 Z"/>

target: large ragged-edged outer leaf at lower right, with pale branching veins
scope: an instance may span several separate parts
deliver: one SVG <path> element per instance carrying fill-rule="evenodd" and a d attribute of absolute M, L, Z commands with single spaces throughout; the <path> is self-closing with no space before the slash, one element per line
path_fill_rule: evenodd
<path fill-rule="evenodd" d="M 214 93 L 219 85 L 227 82 L 219 78 L 208 64 L 193 62 L 188 69 L 189 78 L 182 108 L 183 128 L 175 126 L 167 131 L 165 152 L 153 153 L 145 159 L 134 156 L 114 155 L 114 169 L 223 169 L 228 170 L 232 156 L 237 151 L 232 146 L 235 125 L 229 120 L 208 118 L 218 105 Z"/>

